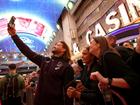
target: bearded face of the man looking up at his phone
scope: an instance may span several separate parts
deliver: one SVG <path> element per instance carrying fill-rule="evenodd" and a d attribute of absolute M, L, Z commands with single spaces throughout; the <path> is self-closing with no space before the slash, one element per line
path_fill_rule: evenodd
<path fill-rule="evenodd" d="M 52 48 L 53 54 L 64 54 L 65 49 L 63 48 L 63 44 L 61 42 L 58 42 L 54 45 Z"/>

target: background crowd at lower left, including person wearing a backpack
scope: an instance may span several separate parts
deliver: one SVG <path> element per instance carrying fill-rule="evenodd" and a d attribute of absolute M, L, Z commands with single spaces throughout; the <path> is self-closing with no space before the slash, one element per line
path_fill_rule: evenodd
<path fill-rule="evenodd" d="M 8 73 L 0 79 L 0 105 L 33 105 L 39 72 L 19 74 L 18 64 L 8 67 Z"/>

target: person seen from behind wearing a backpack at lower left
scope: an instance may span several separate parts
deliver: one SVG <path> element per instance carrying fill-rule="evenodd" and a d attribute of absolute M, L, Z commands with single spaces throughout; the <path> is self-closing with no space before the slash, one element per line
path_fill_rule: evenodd
<path fill-rule="evenodd" d="M 0 80 L 2 105 L 23 105 L 24 78 L 17 73 L 16 64 L 10 64 L 9 72 Z"/>

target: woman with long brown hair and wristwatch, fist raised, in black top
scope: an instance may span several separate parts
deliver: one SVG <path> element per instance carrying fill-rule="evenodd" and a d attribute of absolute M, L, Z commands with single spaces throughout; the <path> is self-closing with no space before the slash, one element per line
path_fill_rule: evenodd
<path fill-rule="evenodd" d="M 111 99 L 107 103 L 109 105 L 112 102 L 115 105 L 122 103 L 123 105 L 130 105 L 129 96 L 132 90 L 138 86 L 140 80 L 138 75 L 126 65 L 119 53 L 109 46 L 103 36 L 93 37 L 90 42 L 90 53 L 97 57 L 100 64 L 100 70 L 91 73 L 90 78 L 99 81 L 99 88 L 102 92 L 110 87 L 123 96 L 120 98 L 121 101 L 118 101 L 119 98 L 113 95 L 113 101 L 109 97 Z"/>

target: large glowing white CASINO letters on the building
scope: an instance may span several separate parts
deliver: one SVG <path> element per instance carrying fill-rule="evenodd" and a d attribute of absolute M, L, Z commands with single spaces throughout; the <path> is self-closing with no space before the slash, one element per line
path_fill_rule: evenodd
<path fill-rule="evenodd" d="M 136 0 L 135 0 L 136 1 Z M 137 1 L 139 2 L 139 1 Z M 95 36 L 106 35 L 106 33 L 112 32 L 114 30 L 119 29 L 122 26 L 126 26 L 130 24 L 132 21 L 139 18 L 138 11 L 140 10 L 140 5 L 135 3 L 133 0 L 126 0 L 128 10 L 125 7 L 124 3 L 121 3 L 118 6 L 118 11 L 111 11 L 105 18 L 105 23 L 109 25 L 109 29 L 105 30 L 101 23 L 97 23 L 95 27 Z M 118 13 L 120 13 L 120 17 L 115 17 Z M 128 14 L 129 13 L 129 14 Z M 91 35 L 90 31 L 86 34 L 86 41 L 89 44 L 88 37 Z"/>

